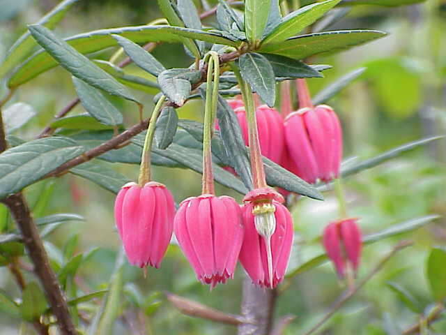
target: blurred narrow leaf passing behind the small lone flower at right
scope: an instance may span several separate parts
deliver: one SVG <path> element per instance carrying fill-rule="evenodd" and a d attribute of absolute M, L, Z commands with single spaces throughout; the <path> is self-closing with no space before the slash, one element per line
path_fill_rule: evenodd
<path fill-rule="evenodd" d="M 381 239 L 385 239 L 387 237 L 396 236 L 398 234 L 403 234 L 405 232 L 413 231 L 417 228 L 422 227 L 423 225 L 426 225 L 427 223 L 430 223 L 431 221 L 435 220 L 436 218 L 439 218 L 438 215 L 428 215 L 428 216 L 421 216 L 420 218 L 413 218 L 408 221 L 404 221 L 402 223 L 398 223 L 397 225 L 394 225 L 390 228 L 386 228 L 382 232 L 378 232 L 376 234 L 367 235 L 362 239 L 362 242 L 364 244 L 372 244 L 376 241 L 380 241 Z M 394 229 L 394 227 L 396 227 Z M 298 274 L 302 274 L 302 272 L 308 271 L 313 269 L 314 267 L 318 267 L 319 265 L 322 265 L 328 260 L 328 257 L 325 253 L 321 255 L 317 255 L 316 257 L 307 260 L 303 264 L 299 265 L 295 269 L 292 269 L 289 271 L 289 273 L 286 274 L 287 277 L 291 278 L 293 276 L 296 276 Z"/>

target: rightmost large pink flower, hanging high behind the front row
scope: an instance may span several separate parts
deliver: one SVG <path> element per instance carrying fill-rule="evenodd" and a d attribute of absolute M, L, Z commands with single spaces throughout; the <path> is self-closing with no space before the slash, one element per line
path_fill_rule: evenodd
<path fill-rule="evenodd" d="M 342 130 L 328 105 L 304 107 L 285 119 L 285 140 L 289 170 L 313 184 L 339 176 L 342 158 Z"/>

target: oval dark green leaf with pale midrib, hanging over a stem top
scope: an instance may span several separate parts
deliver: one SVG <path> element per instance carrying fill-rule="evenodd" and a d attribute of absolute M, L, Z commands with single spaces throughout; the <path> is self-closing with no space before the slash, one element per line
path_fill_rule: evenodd
<path fill-rule="evenodd" d="M 240 66 L 243 79 L 249 82 L 252 89 L 268 106 L 274 106 L 276 101 L 275 75 L 268 59 L 261 54 L 243 54 L 238 61 L 238 66 Z"/>

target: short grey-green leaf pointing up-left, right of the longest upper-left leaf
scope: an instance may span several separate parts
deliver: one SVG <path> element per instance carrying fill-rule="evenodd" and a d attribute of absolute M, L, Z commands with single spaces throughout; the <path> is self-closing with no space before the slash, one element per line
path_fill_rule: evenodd
<path fill-rule="evenodd" d="M 155 77 L 157 77 L 162 71 L 165 70 L 164 66 L 157 61 L 155 57 L 151 55 L 150 52 L 144 50 L 144 47 L 140 47 L 137 43 L 133 43 L 128 38 L 119 35 L 112 35 L 114 39 L 116 39 L 123 47 L 128 57 L 134 61 L 134 64 L 137 64 L 140 68 L 151 73 Z"/>

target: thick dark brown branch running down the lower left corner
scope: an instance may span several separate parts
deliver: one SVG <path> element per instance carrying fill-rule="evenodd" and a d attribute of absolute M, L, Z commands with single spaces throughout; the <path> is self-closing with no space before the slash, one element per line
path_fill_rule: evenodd
<path fill-rule="evenodd" d="M 23 241 L 34 265 L 34 272 L 45 289 L 45 295 L 56 316 L 61 334 L 76 335 L 75 325 L 72 323 L 66 297 L 64 297 L 59 281 L 49 265 L 49 259 L 43 241 L 29 211 L 29 207 L 22 193 L 10 195 L 2 200 L 11 211 L 15 222 L 23 236 Z"/>

